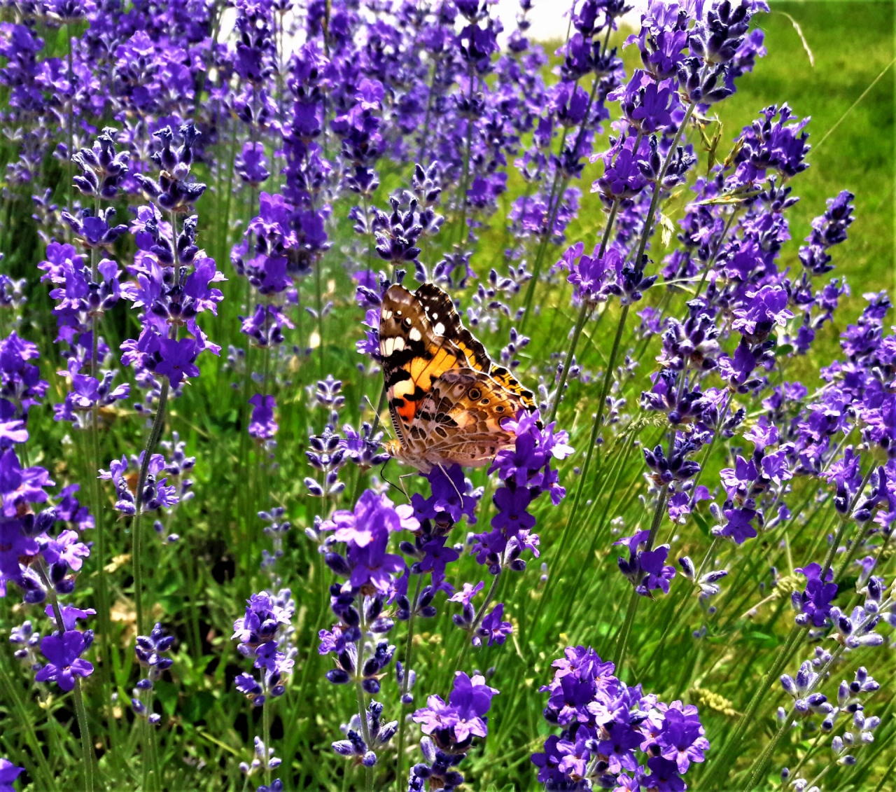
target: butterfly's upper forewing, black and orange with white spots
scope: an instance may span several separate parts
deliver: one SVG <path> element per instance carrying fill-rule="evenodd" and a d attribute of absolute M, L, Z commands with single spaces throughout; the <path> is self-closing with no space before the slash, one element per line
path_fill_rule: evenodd
<path fill-rule="evenodd" d="M 492 363 L 485 347 L 461 324 L 441 288 L 425 283 L 411 293 L 398 284 L 383 296 L 380 355 L 392 425 L 402 443 L 418 406 L 433 383 L 453 368 L 487 372 Z"/>

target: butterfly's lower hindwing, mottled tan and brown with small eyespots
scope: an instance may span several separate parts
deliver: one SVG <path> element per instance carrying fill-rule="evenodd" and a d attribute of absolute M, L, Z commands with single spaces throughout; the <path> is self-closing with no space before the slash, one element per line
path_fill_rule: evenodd
<path fill-rule="evenodd" d="M 409 426 L 409 439 L 431 464 L 455 462 L 465 467 L 485 465 L 516 442 L 502 428 L 504 418 L 524 409 L 520 396 L 472 368 L 445 371 L 421 401 Z"/>

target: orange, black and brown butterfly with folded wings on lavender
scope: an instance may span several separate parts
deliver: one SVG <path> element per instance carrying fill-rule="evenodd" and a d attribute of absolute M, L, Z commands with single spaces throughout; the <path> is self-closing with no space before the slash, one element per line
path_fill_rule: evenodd
<path fill-rule="evenodd" d="M 380 356 L 396 435 L 386 451 L 424 473 L 487 465 L 516 441 L 504 418 L 535 410 L 532 392 L 492 363 L 451 297 L 432 283 L 386 291 Z"/>

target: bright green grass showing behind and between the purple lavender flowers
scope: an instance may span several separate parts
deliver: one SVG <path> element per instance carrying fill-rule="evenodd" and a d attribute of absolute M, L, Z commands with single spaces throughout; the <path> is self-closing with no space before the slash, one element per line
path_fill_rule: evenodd
<path fill-rule="evenodd" d="M 791 17 L 803 30 L 814 55 L 814 67 L 809 64 Z M 766 32 L 770 54 L 757 63 L 754 73 L 745 75 L 737 95 L 720 106 L 723 137 L 719 148 L 723 154 L 726 145 L 760 108 L 784 101 L 797 115 L 812 116 L 808 127 L 812 141 L 822 140 L 896 56 L 892 36 L 893 5 L 889 3 L 776 3 L 772 4 L 772 13 L 761 15 L 758 23 Z M 631 68 L 631 50 L 625 51 L 625 58 Z M 812 379 L 818 366 L 836 357 L 837 336 L 845 323 L 857 316 L 862 305 L 861 294 L 893 286 L 896 159 L 893 151 L 893 78 L 894 69 L 890 68 L 824 140 L 821 148 L 812 153 L 812 168 L 793 180 L 794 192 L 801 200 L 790 215 L 793 239 L 782 254 L 784 263 L 798 265 L 797 247 L 806 237 L 812 218 L 823 211 L 825 200 L 841 189 L 849 189 L 857 195 L 857 220 L 850 228 L 849 242 L 836 251 L 838 269 L 833 273 L 848 278 L 852 297 L 840 318 L 833 326 L 828 326 L 816 342 L 813 354 L 793 366 L 793 370 L 788 371 L 788 378 Z M 600 141 L 598 148 L 603 144 L 604 141 Z M 598 173 L 598 165 L 590 165 L 585 170 L 582 211 L 568 235 L 571 240 L 586 240 L 586 245 L 595 238 L 603 222 L 595 197 L 587 193 L 587 185 Z M 56 179 L 61 176 L 52 171 L 50 175 Z M 407 175 L 384 173 L 383 197 L 389 188 L 400 185 L 404 176 Z M 217 177 L 210 173 L 208 180 L 215 184 Z M 221 177 L 226 184 L 226 174 Z M 679 216 L 685 200 L 686 196 L 681 196 L 666 210 L 673 219 Z M 246 202 L 245 191 L 237 195 L 231 218 L 245 219 L 248 210 L 239 205 L 240 202 Z M 199 204 L 199 215 L 202 244 L 218 257 L 220 266 L 231 278 L 225 286 L 227 300 L 221 306 L 220 317 L 207 328 L 212 340 L 224 347 L 226 357 L 228 343 L 242 345 L 236 317 L 241 312 L 244 287 L 224 263 L 228 258 L 228 239 L 221 235 L 221 231 L 227 230 L 232 242 L 238 230 L 238 227 L 223 228 L 224 204 L 222 195 L 210 190 Z M 11 223 L 5 229 L 6 265 L 13 275 L 27 276 L 30 280 L 31 301 L 22 333 L 40 343 L 44 375 L 53 384 L 47 396 L 47 402 L 52 403 L 60 400 L 64 383 L 54 374 L 59 366 L 54 359 L 53 332 L 46 327 L 49 300 L 46 289 L 37 283 L 34 268 L 43 251 L 29 224 L 27 201 L 8 205 L 12 211 Z M 346 208 L 337 207 L 338 210 Z M 492 219 L 492 230 L 484 234 L 481 250 L 474 257 L 474 268 L 480 276 L 487 273 L 488 267 L 500 263 L 503 257 L 500 220 L 500 215 Z M 341 220 L 338 238 L 349 240 L 350 237 L 347 221 Z M 323 605 L 324 587 L 329 585 L 331 576 L 320 564 L 319 556 L 303 533 L 303 529 L 312 523 L 314 514 L 321 511 L 321 504 L 305 495 L 301 482 L 310 472 L 305 461 L 308 433 L 310 430 L 320 431 L 326 420 L 325 412 L 314 408 L 306 387 L 330 372 L 343 379 L 347 400 L 341 419 L 356 424 L 365 409 L 362 397 L 366 395 L 375 400 L 379 392 L 377 376 L 360 376 L 356 369 L 358 355 L 354 340 L 360 334 L 360 314 L 352 307 L 349 281 L 342 267 L 345 257 L 362 258 L 365 254 L 366 251 L 352 249 L 350 242 L 341 247 L 336 245 L 325 262 L 320 290 L 313 279 L 307 280 L 302 287 L 303 308 L 320 306 L 332 299 L 334 310 L 324 323 L 323 340 L 319 339 L 316 344 L 313 340 L 316 323 L 304 310 L 297 311 L 295 342 L 298 349 L 286 349 L 277 366 L 281 426 L 277 452 L 279 469 L 261 472 L 257 463 L 263 459 L 263 452 L 257 449 L 249 452 L 253 464 L 245 468 L 239 466 L 238 438 L 244 433 L 242 393 L 231 387 L 231 380 L 236 377 L 224 369 L 223 359 L 220 362 L 209 356 L 201 359 L 202 377 L 172 405 L 168 431 L 177 431 L 186 441 L 188 452 L 197 457 L 197 465 L 193 477 L 196 496 L 177 511 L 170 527 L 182 536 L 181 541 L 173 547 L 150 543 L 151 563 L 147 564 L 151 569 L 150 599 L 155 603 L 153 616 L 177 633 L 175 667 L 170 678 L 158 686 L 166 724 L 165 740 L 159 750 L 169 789 L 208 792 L 239 789 L 242 781 L 237 762 L 251 761 L 252 737 L 261 731 L 261 712 L 250 710 L 245 699 L 233 690 L 233 676 L 246 670 L 247 664 L 237 655 L 229 635 L 230 625 L 241 614 L 242 599 L 268 584 L 258 569 L 258 562 L 261 549 L 270 547 L 269 540 L 263 535 L 263 524 L 254 517 L 254 512 L 274 504 L 286 506 L 295 526 L 287 536 L 285 555 L 277 569 L 283 585 L 293 590 L 298 606 L 296 673 L 287 694 L 274 709 L 272 724 L 278 755 L 284 759 L 285 771 L 281 778 L 288 789 L 339 790 L 360 788 L 362 784 L 361 773 L 349 771 L 346 775 L 345 762 L 334 756 L 329 747 L 332 740 L 340 736 L 340 723 L 348 720 L 354 702 L 350 691 L 323 681 L 323 672 L 329 666 L 318 658 L 314 647 L 317 630 L 329 620 Z M 651 252 L 655 260 L 663 254 L 665 250 L 661 245 Z M 556 257 L 549 259 L 554 260 Z M 567 328 L 573 325 L 573 308 L 569 307 L 569 294 L 564 286 L 554 283 L 538 290 L 541 311 L 538 320 L 527 329 L 532 342 L 526 349 L 523 366 L 524 378 L 530 383 L 537 382 L 538 376 L 551 375 L 556 364 L 550 354 L 556 352 Z M 654 289 L 648 302 L 655 304 L 659 297 L 660 289 Z M 581 348 L 582 366 L 591 371 L 602 370 L 605 365 L 603 356 L 608 346 L 605 335 L 614 326 L 615 316 L 604 317 L 599 322 L 586 327 L 586 344 Z M 504 323 L 498 333 L 482 333 L 490 351 L 495 353 L 504 344 L 508 329 L 509 323 Z M 115 349 L 125 333 L 133 334 L 134 317 L 126 314 L 124 306 L 119 306 L 116 314 L 109 317 L 105 332 L 110 346 Z M 626 349 L 633 346 L 628 338 L 625 344 Z M 642 357 L 641 368 L 625 383 L 629 414 L 650 372 L 653 354 L 653 348 L 650 348 Z M 253 364 L 262 365 L 257 353 L 253 355 Z M 595 387 L 594 383 L 573 383 L 564 402 L 568 406 L 564 406 L 562 424 L 570 429 L 573 445 L 580 449 L 586 443 L 590 428 Z M 120 410 L 110 414 L 108 420 L 109 431 L 103 440 L 104 461 L 122 453 L 137 452 L 142 442 L 143 419 L 131 411 Z M 33 435 L 29 443 L 32 464 L 46 465 L 59 484 L 86 480 L 77 443 L 67 442 L 71 438 L 66 434 L 65 426 L 54 424 L 49 409 L 34 413 L 30 430 Z M 501 690 L 490 713 L 488 739 L 465 762 L 470 789 L 504 790 L 509 787 L 522 792 L 538 788 L 529 754 L 549 731 L 541 719 L 544 698 L 538 693 L 538 687 L 547 682 L 551 661 L 567 643 L 590 643 L 602 654 L 612 649 L 628 592 L 627 583 L 616 572 L 616 552 L 610 543 L 616 535 L 629 535 L 650 521 L 650 515 L 645 514 L 639 501 L 644 486 L 638 446 L 641 443 L 652 445 L 662 431 L 659 421 L 647 419 L 633 426 L 631 432 L 607 443 L 607 448 L 599 452 L 599 467 L 587 482 L 586 508 L 580 521 L 573 526 L 566 547 L 559 547 L 559 538 L 571 499 L 561 509 L 544 504 L 539 507 L 542 560 L 547 561 L 549 574 L 557 576 L 557 580 L 552 581 L 551 596 L 545 600 L 542 597 L 544 585 L 536 584 L 538 564 L 530 564 L 524 575 L 506 575 L 498 599 L 506 603 L 505 613 L 513 620 L 513 640 L 503 647 L 483 648 L 468 655 L 467 670 L 470 667 L 489 669 L 491 684 Z M 718 469 L 722 463 L 723 455 L 719 449 L 711 470 Z M 579 464 L 581 453 L 564 465 L 562 478 L 566 486 L 576 485 L 573 466 Z M 349 493 L 355 486 L 351 478 L 354 475 L 354 472 L 349 473 Z M 387 471 L 386 475 L 392 478 L 392 472 Z M 473 478 L 477 484 L 485 480 L 481 472 Z M 799 495 L 804 492 L 800 490 Z M 343 501 L 340 505 L 345 504 Z M 480 522 L 485 522 L 487 510 L 482 511 Z M 616 518 L 624 521 L 624 525 L 613 522 Z M 716 602 L 719 611 L 715 615 L 703 612 L 695 601 L 686 601 L 683 590 L 674 587 L 668 598 L 642 604 L 635 622 L 629 655 L 632 661 L 625 673 L 626 681 L 631 683 L 636 679 L 644 684 L 645 690 L 658 693 L 666 700 L 682 698 L 700 703 L 703 722 L 713 742 L 731 727 L 734 720 L 731 712 L 745 708 L 746 693 L 768 667 L 771 656 L 788 631 L 786 598 L 772 601 L 754 619 L 741 616 L 770 590 L 769 568 L 772 565 L 789 572 L 794 564 L 812 558 L 813 552 L 817 555 L 817 547 L 823 542 L 824 515 L 815 514 L 810 505 L 800 518 L 788 537 L 790 541 L 786 549 L 781 549 L 776 541 L 760 539 L 751 547 L 749 555 L 741 556 L 728 550 L 721 555 L 722 563 L 739 566 Z M 667 533 L 669 537 L 665 536 Z M 115 641 L 119 652 L 112 671 L 121 702 L 116 716 L 121 742 L 115 747 L 116 753 L 127 755 L 128 751 L 135 750 L 134 743 L 128 742 L 134 737 L 128 733 L 129 713 L 125 706 L 130 697 L 130 686 L 134 684 L 133 652 L 129 648 L 133 636 L 133 592 L 127 572 L 128 561 L 124 557 L 130 541 L 128 523 L 117 522 L 113 534 L 109 558 L 116 558 L 112 564 L 117 566 L 111 574 L 115 579 Z M 699 558 L 709 545 L 699 524 L 687 525 L 681 530 L 681 536 L 672 534 L 668 526 L 664 527 L 661 539 L 673 540 L 673 557 L 689 554 Z M 455 540 L 461 538 L 461 529 L 458 529 Z M 564 568 L 559 564 L 561 553 L 568 553 L 571 559 Z M 477 576 L 481 575 L 481 570 L 469 559 L 457 566 L 456 580 L 452 582 L 480 579 Z M 91 569 L 79 583 L 79 601 L 85 604 L 90 602 L 93 594 L 95 573 L 95 569 Z M 13 605 L 13 599 L 0 600 L 0 634 L 3 635 L 22 620 L 21 608 Z M 444 695 L 447 692 L 452 672 L 461 657 L 464 635 L 452 628 L 450 608 L 445 607 L 441 599 L 438 603 L 439 616 L 433 623 L 421 624 L 415 639 L 418 702 L 428 693 Z M 672 623 L 672 616 L 679 607 L 680 620 L 667 636 L 663 636 L 664 628 Z M 538 611 L 541 611 L 541 618 L 538 624 L 532 624 Z M 702 625 L 707 626 L 706 637 L 694 641 L 691 633 Z M 392 641 L 401 645 L 403 636 L 404 628 L 399 626 L 392 633 Z M 661 636 L 664 637 L 663 649 L 657 652 Z M 8 646 L 2 651 L 8 656 Z M 886 673 L 892 675 L 892 659 L 888 662 Z M 846 669 L 842 669 L 842 673 L 846 674 Z M 79 770 L 77 745 L 67 733 L 73 718 L 70 697 L 55 693 L 39 701 L 25 675 L 18 669 L 15 674 L 19 676 L 14 677 L 13 684 L 19 695 L 27 700 L 31 725 L 37 730 L 40 741 L 49 746 L 47 761 L 52 772 L 58 777 L 61 788 L 75 788 Z M 885 678 L 876 672 L 875 676 L 882 682 Z M 886 687 L 881 698 L 885 693 Z M 87 694 L 89 702 L 95 703 L 97 690 L 88 686 Z M 394 710 L 393 678 L 384 681 L 383 697 Z M 2 701 L 0 754 L 22 763 L 29 752 L 25 747 L 28 726 L 14 714 L 5 697 Z M 767 742 L 773 727 L 771 713 L 778 703 L 777 693 L 771 694 L 744 745 L 742 756 L 738 758 L 738 767 L 745 766 Z M 93 731 L 100 741 L 101 772 L 120 788 L 136 788 L 134 772 L 139 774 L 139 770 L 134 770 L 135 765 L 125 766 L 109 758 L 115 754 L 108 753 L 108 733 L 104 733 L 99 723 L 94 724 Z M 882 780 L 882 770 L 892 759 L 894 732 L 896 724 L 891 718 L 878 732 L 874 750 L 879 749 L 879 753 L 871 754 L 874 756 L 872 761 L 861 762 L 855 769 L 832 773 L 830 783 L 836 786 L 831 788 L 873 789 Z M 789 758 L 785 756 L 785 749 Z M 806 743 L 801 742 L 800 735 L 785 740 L 774 765 L 775 771 L 781 762 L 793 762 L 793 756 L 805 749 Z M 386 788 L 387 782 L 392 783 L 391 762 L 392 757 L 380 770 L 382 788 Z M 696 789 L 701 788 L 700 779 L 699 770 L 688 776 L 689 783 L 693 780 Z M 771 786 L 770 776 L 767 787 Z"/>

